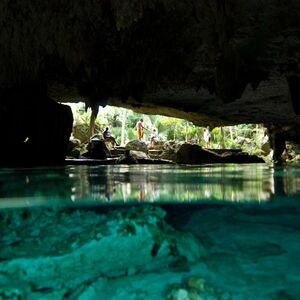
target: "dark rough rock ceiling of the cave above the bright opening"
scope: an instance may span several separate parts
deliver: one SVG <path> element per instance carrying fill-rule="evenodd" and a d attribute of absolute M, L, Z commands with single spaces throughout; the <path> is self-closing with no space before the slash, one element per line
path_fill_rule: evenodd
<path fill-rule="evenodd" d="M 4 0 L 0 22 L 1 125 L 46 93 L 299 140 L 298 0 Z"/>

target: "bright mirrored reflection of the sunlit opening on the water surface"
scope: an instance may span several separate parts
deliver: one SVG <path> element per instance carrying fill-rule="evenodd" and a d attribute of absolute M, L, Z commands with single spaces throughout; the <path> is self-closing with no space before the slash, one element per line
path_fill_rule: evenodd
<path fill-rule="evenodd" d="M 265 165 L 83 167 L 73 196 L 98 201 L 265 201 L 274 193 L 297 192 L 299 181 L 288 173 L 276 176 Z"/>

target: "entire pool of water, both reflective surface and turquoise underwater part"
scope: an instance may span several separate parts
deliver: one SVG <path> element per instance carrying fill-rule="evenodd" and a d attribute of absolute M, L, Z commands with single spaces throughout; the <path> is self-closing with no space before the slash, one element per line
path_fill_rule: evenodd
<path fill-rule="evenodd" d="M 300 168 L 0 171 L 0 299 L 299 299 Z"/>

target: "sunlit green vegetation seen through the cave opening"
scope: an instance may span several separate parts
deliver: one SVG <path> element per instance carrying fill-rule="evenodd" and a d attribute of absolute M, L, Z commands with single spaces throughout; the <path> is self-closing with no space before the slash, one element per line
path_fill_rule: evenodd
<path fill-rule="evenodd" d="M 211 127 L 210 141 L 207 143 L 207 127 L 196 126 L 184 119 L 136 113 L 130 109 L 114 106 L 99 106 L 97 116 L 93 117 L 92 110 L 86 109 L 85 103 L 69 103 L 69 105 L 74 116 L 72 138 L 81 143 L 87 143 L 95 135 L 102 137 L 103 131 L 108 127 L 116 143 L 124 147 L 137 139 L 135 126 L 142 118 L 145 128 L 143 141 L 148 147 L 152 146 L 151 136 L 155 130 L 161 146 L 165 143 L 189 143 L 219 153 L 234 150 L 258 155 L 264 160 L 271 160 L 272 157 L 268 134 L 262 124 Z"/>

